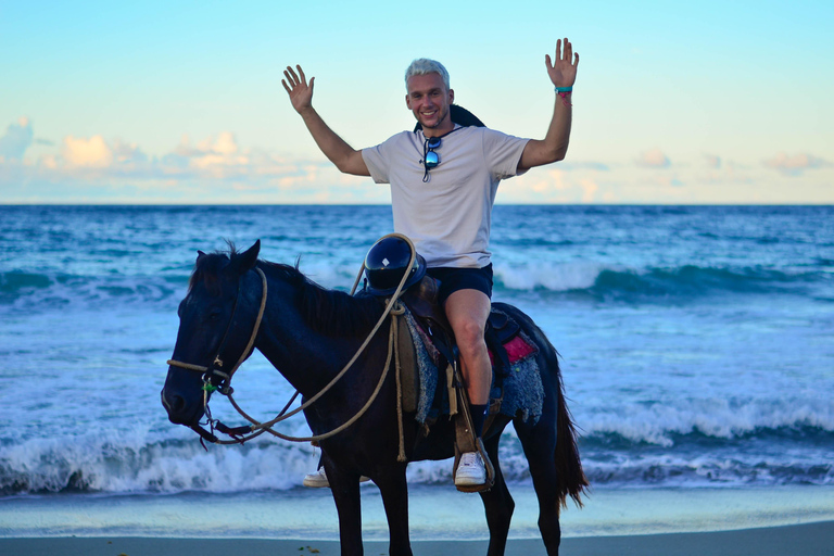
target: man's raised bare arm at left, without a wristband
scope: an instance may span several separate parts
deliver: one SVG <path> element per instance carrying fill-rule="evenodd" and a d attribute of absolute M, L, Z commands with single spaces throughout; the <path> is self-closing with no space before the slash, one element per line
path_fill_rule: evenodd
<path fill-rule="evenodd" d="M 362 151 L 355 150 L 344 139 L 336 135 L 313 108 L 313 81 L 316 78 L 311 77 L 309 84 L 307 84 L 307 78 L 301 66 L 296 65 L 295 67 L 299 70 L 298 74 L 292 67 L 287 66 L 283 72 L 286 79 L 281 79 L 281 84 L 290 96 L 292 108 L 301 114 L 304 125 L 307 126 L 309 135 L 313 136 L 318 148 L 341 172 L 354 176 L 370 176 L 368 166 L 362 157 Z"/>

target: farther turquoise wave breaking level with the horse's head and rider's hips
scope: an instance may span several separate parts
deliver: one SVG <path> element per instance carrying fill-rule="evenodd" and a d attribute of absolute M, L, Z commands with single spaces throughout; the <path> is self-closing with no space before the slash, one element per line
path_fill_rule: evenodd
<path fill-rule="evenodd" d="M 307 265 L 308 266 L 308 265 Z M 356 269 L 318 264 L 303 268 L 312 279 L 330 288 L 348 289 Z M 42 309 L 61 306 L 105 307 L 110 303 L 169 308 L 185 295 L 188 271 L 162 276 L 76 276 L 26 271 L 0 273 L 0 305 Z M 556 292 L 604 301 L 668 300 L 721 293 L 796 293 L 834 295 L 834 274 L 822 269 L 787 273 L 768 268 L 712 268 L 685 265 L 675 268 L 628 269 L 593 263 L 497 266 L 497 291 Z"/>

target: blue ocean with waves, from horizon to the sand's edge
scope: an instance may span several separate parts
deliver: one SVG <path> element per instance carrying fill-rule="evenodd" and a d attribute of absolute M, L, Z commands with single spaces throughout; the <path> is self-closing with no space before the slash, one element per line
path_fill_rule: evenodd
<path fill-rule="evenodd" d="M 316 450 L 203 450 L 160 403 L 165 361 L 197 250 L 261 239 L 349 290 L 391 228 L 389 206 L 0 206 L 0 536 L 336 538 L 329 493 L 301 485 Z M 491 249 L 493 299 L 563 357 L 592 483 L 564 534 L 834 519 L 834 206 L 497 205 Z M 293 392 L 260 354 L 235 388 L 264 417 Z M 511 534 L 538 536 L 511 427 L 502 466 Z M 408 480 L 415 538 L 485 538 L 451 462 Z"/>

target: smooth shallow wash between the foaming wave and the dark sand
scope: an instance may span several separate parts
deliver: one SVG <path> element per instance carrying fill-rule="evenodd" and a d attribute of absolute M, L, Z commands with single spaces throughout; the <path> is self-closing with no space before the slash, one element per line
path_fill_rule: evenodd
<path fill-rule="evenodd" d="M 509 538 L 538 540 L 531 484 L 513 484 Z M 409 489 L 409 531 L 419 541 L 488 536 L 479 496 L 447 485 Z M 362 488 L 363 538 L 387 541 L 379 490 Z M 564 538 L 697 533 L 834 522 L 834 488 L 596 489 L 585 507 L 561 514 Z M 54 494 L 0 498 L 0 538 L 306 539 L 337 541 L 326 489 L 172 495 Z M 834 542 L 832 542 L 834 544 Z M 116 553 L 118 554 L 118 553 Z M 111 555 L 113 556 L 113 555 Z"/>

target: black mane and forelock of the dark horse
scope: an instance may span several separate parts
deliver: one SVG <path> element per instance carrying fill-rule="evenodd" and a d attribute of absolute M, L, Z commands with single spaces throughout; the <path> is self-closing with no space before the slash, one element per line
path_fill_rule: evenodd
<path fill-rule="evenodd" d="M 188 283 L 191 289 L 202 281 L 212 295 L 219 295 L 220 271 L 237 256 L 235 244 L 228 251 L 198 257 Z M 295 266 L 258 260 L 257 266 L 267 275 L 276 275 L 295 291 L 294 301 L 302 318 L 316 332 L 355 337 L 365 334 L 379 320 L 383 307 L 370 295 L 352 296 L 346 292 L 328 290 L 311 280 Z"/>

